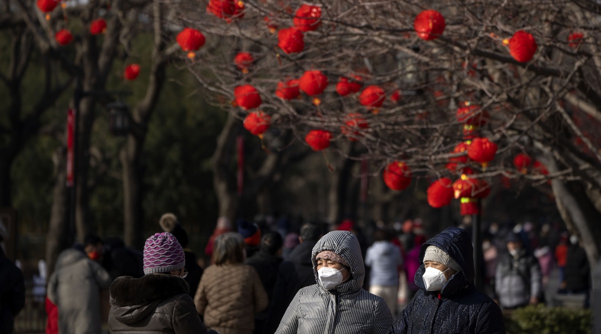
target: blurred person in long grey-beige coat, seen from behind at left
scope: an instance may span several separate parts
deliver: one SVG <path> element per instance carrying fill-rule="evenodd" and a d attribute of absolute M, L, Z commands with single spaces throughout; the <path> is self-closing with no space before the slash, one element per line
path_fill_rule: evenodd
<path fill-rule="evenodd" d="M 106 270 L 90 257 L 100 257 L 102 243 L 94 243 L 84 251 L 68 248 L 58 255 L 54 273 L 48 281 L 48 298 L 58 309 L 58 332 L 61 334 L 100 334 L 100 289 L 111 285 Z M 94 246 L 92 246 L 94 244 Z M 96 252 L 96 254 L 93 254 Z M 90 257 L 89 257 L 90 256 Z"/>

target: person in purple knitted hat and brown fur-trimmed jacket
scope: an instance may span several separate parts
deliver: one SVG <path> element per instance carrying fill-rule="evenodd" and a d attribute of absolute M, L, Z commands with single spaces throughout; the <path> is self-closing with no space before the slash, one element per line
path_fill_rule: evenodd
<path fill-rule="evenodd" d="M 144 276 L 121 276 L 111 285 L 111 333 L 206 334 L 183 279 L 185 263 L 174 235 L 149 237 L 144 244 Z"/>

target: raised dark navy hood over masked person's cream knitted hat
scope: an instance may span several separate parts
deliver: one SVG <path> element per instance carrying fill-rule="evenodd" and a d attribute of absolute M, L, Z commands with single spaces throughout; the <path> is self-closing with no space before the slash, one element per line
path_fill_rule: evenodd
<path fill-rule="evenodd" d="M 461 267 L 461 272 L 451 276 L 442 287 L 442 296 L 452 296 L 474 287 L 474 248 L 468 232 L 463 228 L 450 227 L 430 238 L 419 249 L 419 269 L 415 273 L 413 281 L 426 291 L 424 286 L 424 254 L 428 246 L 436 246 L 447 253 Z"/>

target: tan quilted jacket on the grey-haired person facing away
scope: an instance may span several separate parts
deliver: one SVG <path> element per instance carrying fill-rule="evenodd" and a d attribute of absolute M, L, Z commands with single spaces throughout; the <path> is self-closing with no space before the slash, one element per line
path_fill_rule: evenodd
<path fill-rule="evenodd" d="M 254 315 L 269 300 L 257 272 L 246 264 L 209 266 L 194 296 L 204 323 L 222 334 L 252 334 Z"/>

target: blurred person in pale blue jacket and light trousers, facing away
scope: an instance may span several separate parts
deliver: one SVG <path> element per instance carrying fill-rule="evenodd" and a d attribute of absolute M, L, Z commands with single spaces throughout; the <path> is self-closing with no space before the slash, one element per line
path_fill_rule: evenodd
<path fill-rule="evenodd" d="M 380 296 L 388 305 L 391 314 L 396 314 L 398 294 L 398 272 L 403 258 L 394 237 L 385 229 L 374 232 L 374 243 L 367 249 L 365 266 L 370 267 L 370 293 Z"/>

